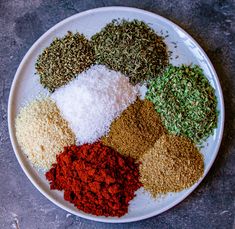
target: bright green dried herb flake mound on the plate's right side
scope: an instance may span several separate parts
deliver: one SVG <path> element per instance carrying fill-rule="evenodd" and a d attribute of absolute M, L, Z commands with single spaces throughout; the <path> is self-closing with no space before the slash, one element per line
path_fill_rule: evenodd
<path fill-rule="evenodd" d="M 174 67 L 149 82 L 152 101 L 170 133 L 201 143 L 217 126 L 215 91 L 198 66 Z"/>

